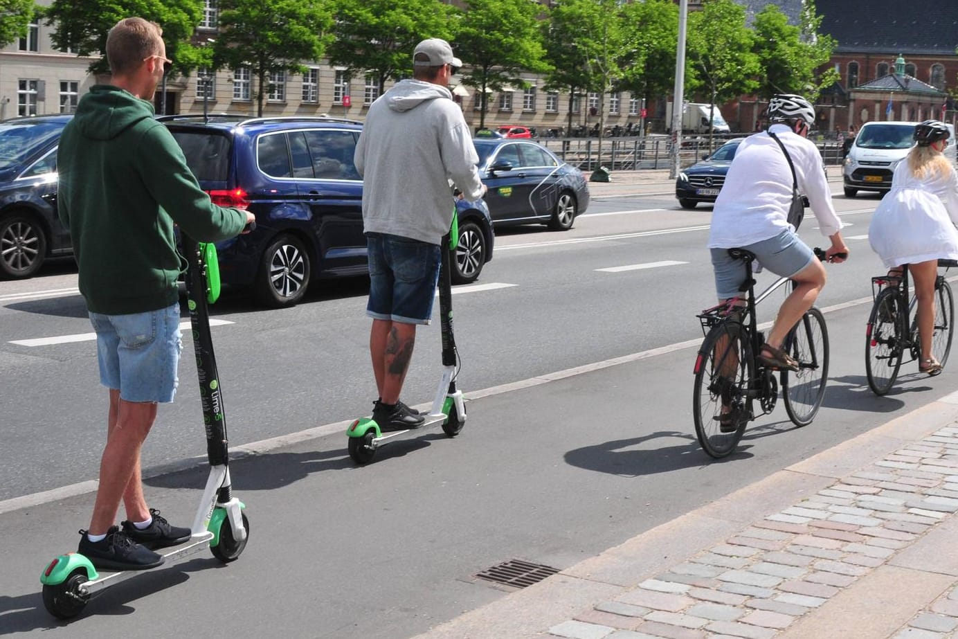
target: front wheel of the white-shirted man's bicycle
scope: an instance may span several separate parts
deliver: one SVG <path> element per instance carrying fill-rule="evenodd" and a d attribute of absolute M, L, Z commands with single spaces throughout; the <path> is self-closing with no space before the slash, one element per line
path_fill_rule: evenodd
<path fill-rule="evenodd" d="M 805 426 L 825 397 L 829 377 L 829 331 L 818 308 L 810 308 L 788 333 L 785 351 L 798 362 L 799 371 L 782 371 L 782 395 L 788 419 Z"/>

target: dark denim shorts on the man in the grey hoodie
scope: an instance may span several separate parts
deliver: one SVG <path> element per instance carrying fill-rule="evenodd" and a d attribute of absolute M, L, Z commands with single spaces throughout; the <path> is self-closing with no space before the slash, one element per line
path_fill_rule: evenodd
<path fill-rule="evenodd" d="M 439 281 L 438 244 L 367 233 L 369 303 L 366 314 L 403 324 L 428 324 Z"/>

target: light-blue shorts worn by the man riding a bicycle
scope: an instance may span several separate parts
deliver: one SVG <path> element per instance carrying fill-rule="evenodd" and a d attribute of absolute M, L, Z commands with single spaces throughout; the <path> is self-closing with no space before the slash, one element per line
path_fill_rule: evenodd
<path fill-rule="evenodd" d="M 783 229 L 774 238 L 739 248 L 754 253 L 756 262 L 780 277 L 792 277 L 798 274 L 815 259 L 808 244 L 799 239 L 790 228 Z M 730 258 L 726 248 L 713 248 L 711 251 L 719 300 L 741 295 L 739 286 L 745 281 L 745 262 Z"/>

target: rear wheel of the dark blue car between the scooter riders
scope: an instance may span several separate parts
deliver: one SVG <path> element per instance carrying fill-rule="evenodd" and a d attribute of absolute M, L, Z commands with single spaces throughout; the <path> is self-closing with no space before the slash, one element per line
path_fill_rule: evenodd
<path fill-rule="evenodd" d="M 296 236 L 281 235 L 262 253 L 256 276 L 256 297 L 267 307 L 290 307 L 306 295 L 309 275 L 309 254 L 303 241 Z"/>

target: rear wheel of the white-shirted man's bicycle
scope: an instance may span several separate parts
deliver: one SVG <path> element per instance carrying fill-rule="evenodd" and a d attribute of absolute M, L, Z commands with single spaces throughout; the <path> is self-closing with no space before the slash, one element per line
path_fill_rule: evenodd
<path fill-rule="evenodd" d="M 739 444 L 751 419 L 747 400 L 753 369 L 748 332 L 738 322 L 723 322 L 705 336 L 696 357 L 692 406 L 702 449 L 719 459 Z M 722 424 L 723 410 L 731 414 Z"/>

